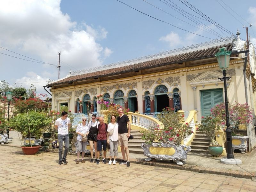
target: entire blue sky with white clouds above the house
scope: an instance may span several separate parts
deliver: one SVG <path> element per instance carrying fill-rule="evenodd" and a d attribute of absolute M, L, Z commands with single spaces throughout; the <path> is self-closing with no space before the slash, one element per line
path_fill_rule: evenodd
<path fill-rule="evenodd" d="M 1 1 L 0 47 L 2 48 L 0 52 L 52 65 L 0 54 L 0 80 L 26 88 L 33 83 L 39 93 L 44 92 L 42 86 L 47 84 L 48 78 L 51 80 L 58 78 L 56 65 L 58 65 L 60 51 L 60 76 L 65 77 L 69 69 L 74 71 L 97 67 L 219 39 L 221 36 L 230 36 L 212 23 L 198 19 L 197 17 L 201 16 L 188 8 L 188 6 L 192 8 L 192 5 L 233 34 L 236 34 L 239 28 L 243 39 L 246 39 L 246 30 L 243 25 L 247 27 L 252 23 L 249 33 L 252 43 L 256 43 L 254 35 L 256 34 L 256 5 L 252 0 L 244 2 L 236 0 L 120 1 L 169 24 L 153 19 L 116 0 Z M 182 9 L 183 13 L 188 12 L 189 16 L 190 14 L 196 16 L 208 29 L 172 9 L 174 4 L 180 10 Z M 192 18 L 195 20 L 195 17 Z M 210 28 L 211 32 L 207 32 Z M 212 34 L 216 32 L 219 35 Z"/>

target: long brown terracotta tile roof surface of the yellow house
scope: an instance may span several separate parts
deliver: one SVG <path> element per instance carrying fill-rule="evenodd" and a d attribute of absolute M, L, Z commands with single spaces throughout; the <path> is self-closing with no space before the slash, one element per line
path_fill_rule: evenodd
<path fill-rule="evenodd" d="M 140 63 L 136 63 L 136 64 L 130 64 L 130 65 L 127 64 L 127 66 L 124 66 L 124 67 L 117 66 L 116 68 L 95 71 L 92 73 L 68 76 L 67 78 L 47 84 L 47 86 L 57 85 L 57 84 L 62 84 L 62 83 L 69 83 L 69 82 L 74 82 L 74 81 L 81 81 L 81 80 L 100 77 L 100 76 L 115 75 L 115 74 L 125 73 L 125 72 L 129 72 L 129 71 L 134 71 L 134 70 L 157 67 L 157 66 L 165 65 L 165 64 L 180 63 L 180 62 L 184 62 L 186 60 L 195 60 L 198 58 L 203 59 L 205 57 L 212 57 L 212 56 L 214 56 L 214 54 L 216 52 L 219 51 L 219 48 L 223 47 L 223 46 L 226 46 L 228 51 L 231 51 L 232 47 L 233 47 L 232 43 L 229 43 L 229 44 L 220 45 L 220 46 L 211 47 L 211 48 L 202 49 L 202 50 L 197 50 L 197 51 L 193 51 L 193 52 L 187 52 L 187 53 L 168 56 L 168 57 L 159 58 L 159 59 L 155 59 L 155 60 L 144 61 L 144 62 L 140 62 Z"/>

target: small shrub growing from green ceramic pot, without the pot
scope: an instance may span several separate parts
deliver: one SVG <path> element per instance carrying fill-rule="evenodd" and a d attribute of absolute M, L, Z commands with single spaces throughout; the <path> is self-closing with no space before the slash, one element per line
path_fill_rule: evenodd
<path fill-rule="evenodd" d="M 215 135 L 221 130 L 220 119 L 210 116 L 202 116 L 201 123 L 199 124 L 197 130 L 203 132 L 210 140 L 211 146 L 220 146 L 220 144 L 215 140 Z"/>

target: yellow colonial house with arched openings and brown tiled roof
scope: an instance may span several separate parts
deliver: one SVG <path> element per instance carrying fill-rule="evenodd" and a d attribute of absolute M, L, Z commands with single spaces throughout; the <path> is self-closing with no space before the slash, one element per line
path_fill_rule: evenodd
<path fill-rule="evenodd" d="M 124 105 L 133 112 L 161 112 L 165 107 L 183 111 L 196 109 L 200 119 L 208 115 L 214 105 L 224 101 L 224 84 L 218 79 L 223 75 L 215 57 L 220 47 L 232 51 L 227 70 L 227 76 L 231 76 L 227 82 L 229 101 L 245 103 L 246 92 L 248 103 L 254 106 L 254 49 L 250 50 L 249 65 L 245 57 L 248 52 L 245 51 L 246 42 L 240 39 L 239 31 L 236 35 L 136 60 L 70 72 L 46 85 L 51 87 L 52 109 L 59 110 L 61 105 L 68 105 L 72 112 L 87 112 L 86 105 L 89 104 L 91 112 L 96 112 L 99 110 L 97 95 L 102 94 L 104 100 Z"/>

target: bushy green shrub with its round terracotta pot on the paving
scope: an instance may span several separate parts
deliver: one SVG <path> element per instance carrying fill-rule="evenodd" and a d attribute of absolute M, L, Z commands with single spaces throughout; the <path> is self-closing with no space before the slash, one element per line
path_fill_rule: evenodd
<path fill-rule="evenodd" d="M 20 113 L 10 119 L 10 127 L 20 132 L 22 137 L 25 137 L 24 145 L 21 147 L 23 153 L 34 155 L 38 152 L 41 146 L 39 146 L 36 139 L 41 137 L 43 129 L 49 126 L 51 121 L 50 118 L 47 118 L 46 113 L 35 111 Z M 28 139 L 26 139 L 26 137 Z"/>

